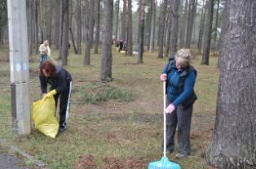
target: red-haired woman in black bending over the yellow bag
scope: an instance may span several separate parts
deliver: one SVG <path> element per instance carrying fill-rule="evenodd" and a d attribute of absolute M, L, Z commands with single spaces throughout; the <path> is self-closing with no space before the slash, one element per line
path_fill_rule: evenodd
<path fill-rule="evenodd" d="M 40 67 L 39 78 L 43 97 L 54 96 L 55 106 L 57 106 L 58 98 L 60 97 L 59 132 L 64 132 L 67 128 L 72 77 L 68 71 L 60 65 L 55 66 L 50 61 L 46 61 L 42 63 Z M 49 93 L 47 93 L 47 84 L 51 85 L 51 91 Z"/>

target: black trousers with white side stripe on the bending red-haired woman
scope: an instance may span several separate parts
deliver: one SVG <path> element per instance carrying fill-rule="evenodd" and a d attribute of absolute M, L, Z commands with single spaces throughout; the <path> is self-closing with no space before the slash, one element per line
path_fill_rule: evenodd
<path fill-rule="evenodd" d="M 58 98 L 60 97 L 60 128 L 67 127 L 71 89 L 72 89 L 72 81 L 67 83 L 67 87 L 66 87 L 66 89 L 64 89 L 63 92 L 55 94 L 55 105 L 56 106 L 58 103 Z"/>

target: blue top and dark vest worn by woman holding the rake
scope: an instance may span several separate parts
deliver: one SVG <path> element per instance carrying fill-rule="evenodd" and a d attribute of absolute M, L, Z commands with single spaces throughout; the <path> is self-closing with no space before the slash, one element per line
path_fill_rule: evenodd
<path fill-rule="evenodd" d="M 194 91 L 196 69 L 189 66 L 187 69 L 178 70 L 174 58 L 170 58 L 163 73 L 167 74 L 166 93 L 170 102 L 183 108 L 191 106 L 197 99 Z"/>

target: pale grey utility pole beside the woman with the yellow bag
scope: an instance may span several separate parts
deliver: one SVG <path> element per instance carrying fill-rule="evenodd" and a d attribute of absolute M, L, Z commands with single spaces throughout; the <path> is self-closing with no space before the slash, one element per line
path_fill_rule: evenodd
<path fill-rule="evenodd" d="M 26 135 L 31 132 L 26 1 L 7 0 L 7 6 L 13 130 Z"/>

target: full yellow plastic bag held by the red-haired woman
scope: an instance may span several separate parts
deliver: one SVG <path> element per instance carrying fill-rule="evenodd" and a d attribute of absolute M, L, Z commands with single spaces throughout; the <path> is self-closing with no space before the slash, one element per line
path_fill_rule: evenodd
<path fill-rule="evenodd" d="M 55 99 L 44 97 L 33 102 L 32 119 L 36 128 L 47 137 L 55 138 L 59 131 L 59 123 L 55 118 Z"/>

